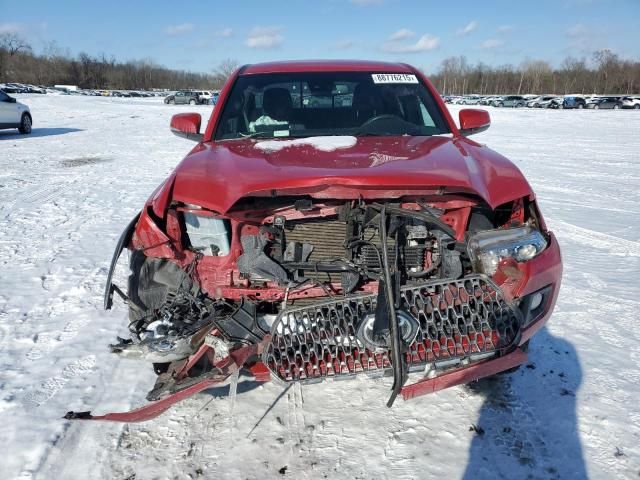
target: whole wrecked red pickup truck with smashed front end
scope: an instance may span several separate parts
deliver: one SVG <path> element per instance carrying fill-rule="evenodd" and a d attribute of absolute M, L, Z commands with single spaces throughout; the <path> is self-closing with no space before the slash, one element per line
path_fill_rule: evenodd
<path fill-rule="evenodd" d="M 148 405 L 67 418 L 142 421 L 239 369 L 258 381 L 393 377 L 388 405 L 526 361 L 560 287 L 558 243 L 531 187 L 469 139 L 405 64 L 248 65 L 197 145 L 125 229 L 105 308 L 111 346 L 158 375 Z M 113 270 L 129 249 L 126 287 Z"/>

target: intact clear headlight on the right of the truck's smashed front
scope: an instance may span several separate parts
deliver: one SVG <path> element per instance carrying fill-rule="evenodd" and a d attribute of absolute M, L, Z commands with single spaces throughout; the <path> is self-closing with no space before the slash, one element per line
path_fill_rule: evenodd
<path fill-rule="evenodd" d="M 547 240 L 530 226 L 507 230 L 485 230 L 469 239 L 467 251 L 476 271 L 493 275 L 505 258 L 526 262 L 547 248 Z"/>

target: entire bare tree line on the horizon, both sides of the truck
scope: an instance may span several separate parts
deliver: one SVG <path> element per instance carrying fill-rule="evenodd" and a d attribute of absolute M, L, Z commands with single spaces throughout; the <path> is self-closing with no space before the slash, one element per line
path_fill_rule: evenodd
<path fill-rule="evenodd" d="M 19 35 L 0 35 L 0 82 L 116 90 L 219 89 L 237 66 L 228 59 L 211 73 L 194 73 L 149 59 L 118 62 L 106 55 L 72 56 L 55 43 L 35 54 Z M 599 50 L 590 59 L 567 57 L 559 67 L 544 60 L 495 67 L 470 64 L 460 56 L 443 60 L 430 78 L 445 95 L 635 94 L 640 93 L 640 61 L 623 59 L 610 50 Z"/>

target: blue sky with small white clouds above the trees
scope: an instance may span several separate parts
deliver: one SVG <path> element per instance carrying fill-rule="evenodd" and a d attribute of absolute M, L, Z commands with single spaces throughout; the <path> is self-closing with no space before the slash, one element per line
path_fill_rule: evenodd
<path fill-rule="evenodd" d="M 638 59 L 639 19 L 640 0 L 0 0 L 0 33 L 22 34 L 36 52 L 55 41 L 202 72 L 225 58 L 400 60 L 427 72 L 456 55 L 557 65 L 609 48 Z"/>

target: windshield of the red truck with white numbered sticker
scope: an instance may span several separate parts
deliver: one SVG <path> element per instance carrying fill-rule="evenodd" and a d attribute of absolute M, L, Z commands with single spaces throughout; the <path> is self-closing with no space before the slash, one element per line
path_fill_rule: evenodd
<path fill-rule="evenodd" d="M 449 132 L 415 75 L 309 72 L 240 76 L 215 139 Z"/>

